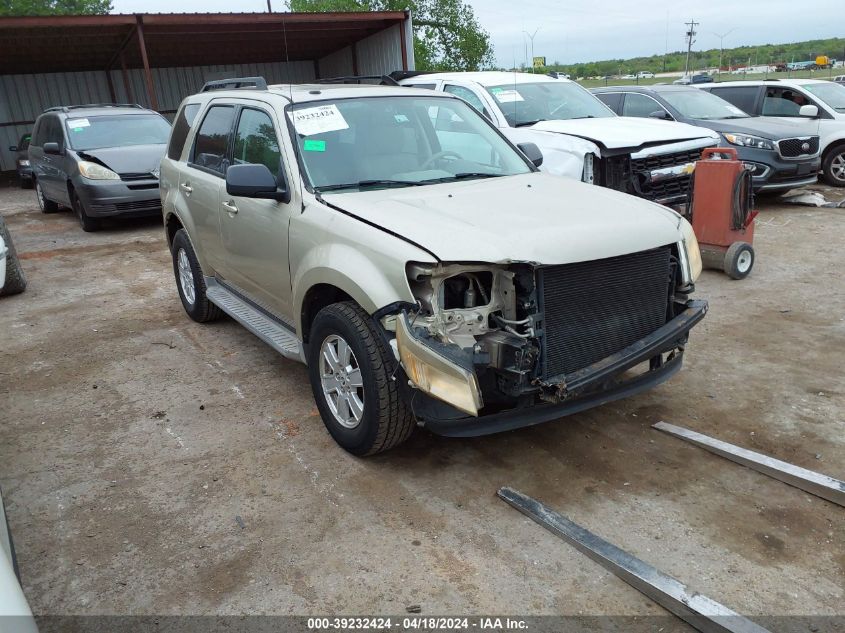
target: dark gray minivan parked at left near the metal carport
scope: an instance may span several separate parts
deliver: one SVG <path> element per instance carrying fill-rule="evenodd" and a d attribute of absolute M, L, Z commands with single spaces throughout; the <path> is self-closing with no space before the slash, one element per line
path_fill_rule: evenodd
<path fill-rule="evenodd" d="M 96 231 L 104 217 L 160 214 L 159 163 L 169 135 L 167 119 L 139 105 L 45 110 L 29 144 L 41 211 L 70 207 L 84 231 Z"/>

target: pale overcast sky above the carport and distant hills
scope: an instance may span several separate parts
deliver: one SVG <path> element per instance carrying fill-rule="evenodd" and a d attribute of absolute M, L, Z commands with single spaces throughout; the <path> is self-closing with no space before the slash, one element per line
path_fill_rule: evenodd
<path fill-rule="evenodd" d="M 271 0 L 283 11 L 283 0 Z M 684 22 L 695 19 L 693 50 L 776 44 L 845 35 L 842 0 L 709 0 L 682 8 L 665 0 L 465 0 L 490 33 L 497 65 L 534 55 L 564 64 L 685 50 Z M 266 0 L 113 0 L 115 13 L 265 11 Z M 535 34 L 536 31 L 536 34 Z"/>

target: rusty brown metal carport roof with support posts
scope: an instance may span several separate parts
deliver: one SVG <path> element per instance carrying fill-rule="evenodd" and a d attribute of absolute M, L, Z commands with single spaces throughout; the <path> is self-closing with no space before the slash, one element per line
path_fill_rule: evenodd
<path fill-rule="evenodd" d="M 151 68 L 318 60 L 394 25 L 407 69 L 408 18 L 406 11 L 0 17 L 0 75 L 143 68 L 155 108 Z"/>

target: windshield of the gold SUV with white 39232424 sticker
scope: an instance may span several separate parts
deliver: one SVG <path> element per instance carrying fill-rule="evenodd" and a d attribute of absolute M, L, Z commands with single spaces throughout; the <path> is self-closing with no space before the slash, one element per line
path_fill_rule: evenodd
<path fill-rule="evenodd" d="M 288 109 L 315 191 L 525 174 L 531 167 L 460 99 L 367 97 Z"/>

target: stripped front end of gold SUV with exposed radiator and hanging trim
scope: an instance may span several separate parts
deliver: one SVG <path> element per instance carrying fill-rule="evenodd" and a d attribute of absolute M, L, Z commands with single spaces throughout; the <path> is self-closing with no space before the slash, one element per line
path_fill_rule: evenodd
<path fill-rule="evenodd" d="M 668 379 L 707 311 L 689 299 L 697 253 L 682 241 L 557 266 L 409 264 L 417 306 L 384 323 L 418 421 L 443 435 L 484 435 Z"/>

